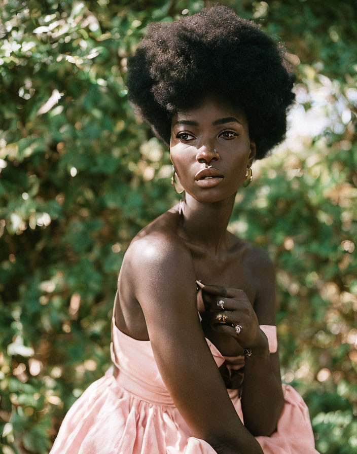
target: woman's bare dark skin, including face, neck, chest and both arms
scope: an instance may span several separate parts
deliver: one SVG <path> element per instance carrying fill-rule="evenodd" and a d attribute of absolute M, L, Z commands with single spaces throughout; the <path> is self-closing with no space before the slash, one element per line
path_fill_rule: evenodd
<path fill-rule="evenodd" d="M 139 232 L 128 248 L 118 279 L 116 324 L 136 339 L 150 338 L 163 381 L 193 436 L 224 454 L 262 453 L 253 435 L 276 429 L 283 396 L 277 353 L 269 354 L 259 328 L 275 322 L 272 264 L 227 231 L 235 194 L 255 157 L 244 112 L 209 97 L 179 112 L 172 119 L 170 156 L 186 201 Z M 209 166 L 214 178 L 199 180 Z M 196 280 L 205 285 L 202 326 Z M 224 311 L 217 306 L 221 299 Z M 239 334 L 236 323 L 242 326 Z M 225 356 L 253 351 L 244 369 L 245 426 L 205 337 Z"/>

